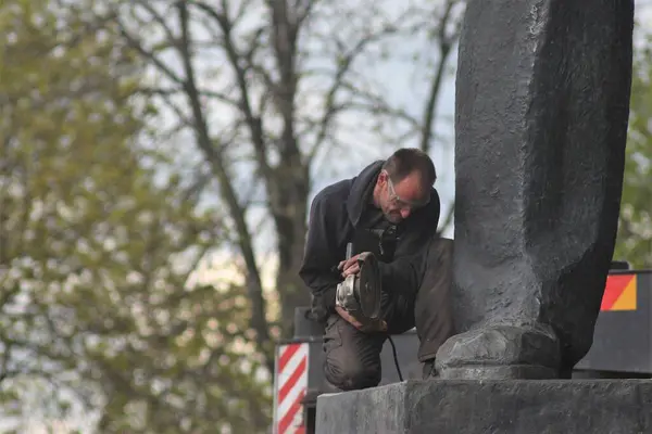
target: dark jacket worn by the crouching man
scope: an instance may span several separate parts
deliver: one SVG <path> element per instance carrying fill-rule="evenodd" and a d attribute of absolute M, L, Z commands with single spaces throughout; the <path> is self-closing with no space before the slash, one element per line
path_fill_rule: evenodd
<path fill-rule="evenodd" d="M 347 243 L 351 241 L 372 199 L 383 163 L 374 162 L 356 177 L 326 187 L 312 202 L 299 275 L 313 294 L 313 315 L 318 320 L 324 320 L 335 310 L 336 288 L 342 278 L 334 268 L 346 257 Z M 439 214 L 439 194 L 432 188 L 428 205 L 412 213 L 399 225 L 401 234 L 393 260 L 380 263 L 384 288 L 416 293 L 424 266 L 423 260 L 414 260 L 415 255 L 424 253 L 424 247 L 437 232 Z"/>

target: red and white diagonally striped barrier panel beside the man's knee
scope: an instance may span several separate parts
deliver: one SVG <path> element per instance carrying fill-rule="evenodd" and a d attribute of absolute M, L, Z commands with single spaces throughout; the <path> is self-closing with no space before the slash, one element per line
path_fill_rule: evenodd
<path fill-rule="evenodd" d="M 280 345 L 276 358 L 274 433 L 303 434 L 303 404 L 308 391 L 309 344 Z"/>

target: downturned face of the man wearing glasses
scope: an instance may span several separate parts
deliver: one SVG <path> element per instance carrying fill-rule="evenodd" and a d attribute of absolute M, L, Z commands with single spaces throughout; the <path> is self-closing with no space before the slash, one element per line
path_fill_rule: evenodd
<path fill-rule="evenodd" d="M 400 224 L 430 202 L 430 188 L 425 186 L 418 173 L 393 183 L 387 171 L 383 170 L 378 176 L 378 184 L 381 188 L 378 200 L 380 209 L 392 224 Z"/>

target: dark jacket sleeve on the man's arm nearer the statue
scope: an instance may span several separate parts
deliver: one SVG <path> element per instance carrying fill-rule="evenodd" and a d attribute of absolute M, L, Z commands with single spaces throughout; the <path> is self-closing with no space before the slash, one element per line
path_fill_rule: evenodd
<path fill-rule="evenodd" d="M 437 234 L 437 225 L 440 213 L 439 197 L 427 208 L 422 216 L 406 231 L 403 240 L 399 242 L 394 260 L 380 264 L 383 285 L 396 289 L 406 294 L 418 291 L 423 276 L 426 271 L 426 253 L 430 239 Z"/>

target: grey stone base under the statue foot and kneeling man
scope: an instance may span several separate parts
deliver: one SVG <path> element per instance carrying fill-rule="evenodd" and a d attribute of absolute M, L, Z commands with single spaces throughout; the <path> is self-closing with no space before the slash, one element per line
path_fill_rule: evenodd
<path fill-rule="evenodd" d="M 652 433 L 652 380 L 408 381 L 319 396 L 316 433 Z"/>

